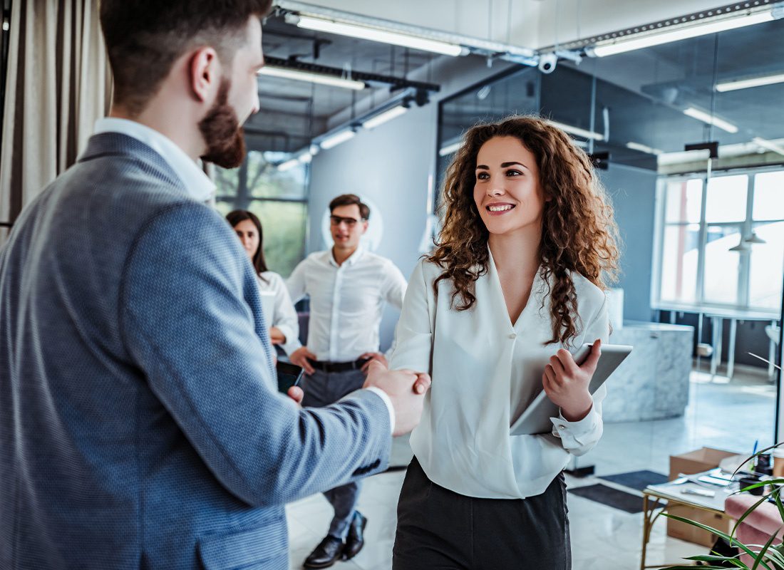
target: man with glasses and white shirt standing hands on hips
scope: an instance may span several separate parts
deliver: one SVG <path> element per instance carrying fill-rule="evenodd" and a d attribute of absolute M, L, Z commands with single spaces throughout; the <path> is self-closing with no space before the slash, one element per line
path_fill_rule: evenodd
<path fill-rule="evenodd" d="M 355 194 L 343 194 L 329 203 L 329 211 L 335 245 L 308 256 L 286 283 L 295 303 L 310 296 L 307 346 L 289 355 L 307 372 L 302 404 L 310 407 L 332 404 L 361 388 L 371 361 L 387 365 L 379 353 L 383 307 L 391 303 L 400 309 L 406 288 L 394 263 L 360 245 L 368 230 L 368 206 Z M 328 568 L 341 557 L 356 556 L 364 546 L 367 518 L 356 510 L 359 489 L 349 483 L 325 492 L 335 516 L 305 568 Z"/>

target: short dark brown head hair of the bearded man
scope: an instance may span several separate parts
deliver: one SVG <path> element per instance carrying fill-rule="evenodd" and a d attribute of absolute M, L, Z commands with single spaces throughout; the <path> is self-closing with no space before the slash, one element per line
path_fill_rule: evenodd
<path fill-rule="evenodd" d="M 209 45 L 224 66 L 242 45 L 245 25 L 272 0 L 101 0 L 100 24 L 114 74 L 114 103 L 143 111 L 176 59 Z"/>

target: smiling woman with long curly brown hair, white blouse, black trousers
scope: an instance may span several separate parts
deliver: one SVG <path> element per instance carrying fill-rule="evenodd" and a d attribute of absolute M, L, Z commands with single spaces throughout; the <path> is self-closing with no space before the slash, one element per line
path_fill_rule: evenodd
<path fill-rule="evenodd" d="M 617 228 L 588 156 L 534 117 L 477 125 L 408 281 L 390 368 L 433 378 L 397 506 L 394 570 L 571 568 L 562 471 L 602 433 Z M 594 343 L 582 365 L 572 354 Z M 542 367 L 544 366 L 544 373 Z M 539 390 L 551 433 L 510 435 Z"/>

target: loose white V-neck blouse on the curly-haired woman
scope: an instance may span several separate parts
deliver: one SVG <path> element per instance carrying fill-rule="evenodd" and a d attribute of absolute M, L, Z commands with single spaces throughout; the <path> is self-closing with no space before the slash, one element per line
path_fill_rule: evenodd
<path fill-rule="evenodd" d="M 562 347 L 543 344 L 552 335 L 547 284 L 537 274 L 513 326 L 492 256 L 476 281 L 470 310 L 450 308 L 450 281 L 439 282 L 436 298 L 433 282 L 440 274 L 426 261 L 414 269 L 390 361 L 391 369 L 429 371 L 433 379 L 411 436 L 414 455 L 430 481 L 461 495 L 539 495 L 564 469 L 569 453 L 583 455 L 599 441 L 607 390 L 602 386 L 593 394 L 593 408 L 579 422 L 556 418 L 552 434 L 510 436 L 511 424 L 542 385 L 546 359 Z M 578 322 L 568 347 L 574 353 L 583 343 L 606 341 L 609 324 L 604 292 L 582 275 L 572 278 L 584 324 L 580 330 Z"/>

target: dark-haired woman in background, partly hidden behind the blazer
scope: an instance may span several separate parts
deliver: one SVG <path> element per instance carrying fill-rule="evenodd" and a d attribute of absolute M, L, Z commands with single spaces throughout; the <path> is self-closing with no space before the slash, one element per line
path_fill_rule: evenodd
<path fill-rule="evenodd" d="M 286 289 L 285 282 L 280 275 L 267 269 L 267 262 L 264 260 L 264 238 L 261 221 L 253 212 L 248 210 L 234 210 L 229 212 L 226 219 L 237 232 L 238 238 L 242 242 L 242 247 L 256 267 L 259 274 L 259 287 L 262 291 L 273 292 L 275 296 L 274 313 L 265 314 L 270 325 L 270 342 L 285 350 L 289 354 L 290 350 L 296 349 L 299 345 L 292 345 L 299 336 L 299 321 L 297 320 L 294 303 L 289 296 L 289 289 Z"/>

